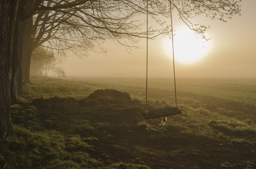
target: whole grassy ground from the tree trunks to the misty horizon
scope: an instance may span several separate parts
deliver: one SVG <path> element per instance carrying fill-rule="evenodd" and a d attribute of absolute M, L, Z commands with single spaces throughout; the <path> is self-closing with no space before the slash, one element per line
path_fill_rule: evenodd
<path fill-rule="evenodd" d="M 183 113 L 169 117 L 165 126 L 159 126 L 160 119 L 145 121 L 141 116 L 145 111 L 145 79 L 32 77 L 31 82 L 19 94 L 20 102 L 12 105 L 16 134 L 0 140 L 0 169 L 256 167 L 256 80 L 177 79 L 177 106 Z M 114 96 L 86 98 L 95 90 L 105 88 L 127 92 L 132 100 L 120 101 Z M 165 106 L 175 106 L 173 80 L 149 79 L 148 109 Z M 178 160 L 160 165 L 160 155 L 154 157 L 159 162 L 145 161 L 152 153 L 142 158 L 131 152 L 124 157 L 122 152 L 129 154 L 137 144 L 137 149 L 132 150 L 135 154 L 145 155 L 150 149 L 165 150 L 156 147 L 159 142 L 165 143 L 162 140 L 167 137 L 165 134 L 168 139 L 177 138 L 178 143 L 183 138 L 206 142 L 200 145 L 201 149 L 196 146 L 199 140 L 191 144 L 196 149 L 190 144 L 181 144 L 179 151 L 177 147 L 171 153 L 181 153 L 184 146 L 188 146 L 186 152 L 197 156 L 195 150 L 203 152 L 214 145 L 209 152 L 218 152 L 222 159 L 211 157 L 211 162 L 201 159 L 204 164 L 195 165 L 195 160 L 189 160 L 191 154 L 185 156 L 182 152 L 178 155 L 187 159 L 184 165 Z M 145 147 L 144 137 L 155 144 Z M 134 145 L 131 146 L 131 142 Z M 223 152 L 218 146 L 223 147 Z M 126 147 L 127 150 L 121 151 Z M 241 158 L 234 153 L 239 154 L 239 150 L 248 154 Z M 211 154 L 209 152 L 205 152 L 205 156 Z M 230 159 L 228 154 L 232 152 L 234 157 Z"/>

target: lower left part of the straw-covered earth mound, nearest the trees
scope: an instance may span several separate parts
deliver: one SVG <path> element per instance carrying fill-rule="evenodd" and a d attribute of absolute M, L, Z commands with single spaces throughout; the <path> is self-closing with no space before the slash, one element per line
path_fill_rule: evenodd
<path fill-rule="evenodd" d="M 79 100 L 75 97 L 61 98 L 54 96 L 51 98 L 37 98 L 31 102 L 38 110 L 71 110 L 79 106 Z"/>

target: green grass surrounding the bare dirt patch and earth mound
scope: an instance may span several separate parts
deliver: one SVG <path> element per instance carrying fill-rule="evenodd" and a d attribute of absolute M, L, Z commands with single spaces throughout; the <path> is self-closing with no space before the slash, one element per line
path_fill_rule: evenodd
<path fill-rule="evenodd" d="M 76 101 L 87 97 L 96 89 L 114 88 L 128 92 L 133 99 L 145 102 L 144 79 L 87 78 L 74 81 L 44 77 L 31 78 L 31 82 L 19 94 L 20 100 L 31 102 L 36 98 L 58 96 L 72 97 Z M 230 142 L 255 142 L 255 84 L 255 80 L 177 79 L 178 107 L 183 113 L 174 119 L 170 118 L 165 126 L 155 125 L 160 121 L 154 120 L 138 121 L 135 126 L 142 130 L 190 133 Z M 68 99 L 65 104 L 69 104 Z M 173 81 L 151 79 L 148 104 L 156 107 L 175 106 Z M 0 169 L 150 168 L 126 162 L 106 165 L 90 157 L 89 152 L 94 150 L 90 143 L 98 141 L 98 138 L 88 133 L 111 139 L 114 136 L 110 131 L 119 126 L 109 122 L 90 121 L 90 116 L 82 116 L 86 108 L 71 107 L 54 111 L 45 109 L 43 114 L 39 114 L 36 106 L 29 104 L 14 104 L 11 108 L 15 135 L 0 140 Z M 222 167 L 232 165 L 227 162 Z"/>

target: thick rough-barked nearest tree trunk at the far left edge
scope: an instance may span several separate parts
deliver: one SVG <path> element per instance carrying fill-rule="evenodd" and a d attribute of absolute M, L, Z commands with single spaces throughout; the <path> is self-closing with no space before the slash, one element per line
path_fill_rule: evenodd
<path fill-rule="evenodd" d="M 12 48 L 19 0 L 0 1 L 0 137 L 12 134 L 10 85 Z"/>

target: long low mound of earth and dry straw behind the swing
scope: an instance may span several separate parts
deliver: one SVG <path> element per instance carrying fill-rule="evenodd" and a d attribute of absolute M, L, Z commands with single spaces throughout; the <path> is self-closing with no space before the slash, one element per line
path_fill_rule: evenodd
<path fill-rule="evenodd" d="M 31 102 L 38 110 L 72 110 L 78 107 L 113 107 L 118 105 L 141 106 L 139 100 L 131 99 L 126 92 L 121 92 L 115 89 L 99 89 L 95 90 L 91 95 L 77 99 L 75 97 L 50 97 L 37 98 Z"/>

